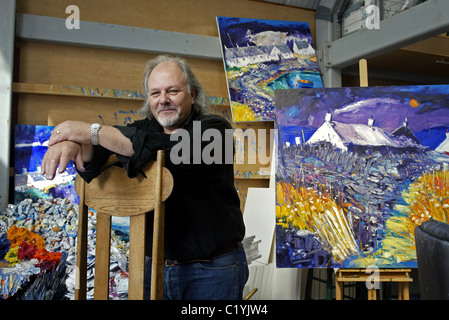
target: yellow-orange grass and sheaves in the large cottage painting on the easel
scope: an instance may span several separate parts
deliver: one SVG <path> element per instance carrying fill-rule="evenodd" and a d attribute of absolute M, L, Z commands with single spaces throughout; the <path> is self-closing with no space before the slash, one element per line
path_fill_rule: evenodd
<path fill-rule="evenodd" d="M 424 173 L 403 190 L 405 204 L 396 205 L 375 252 L 363 252 L 346 218 L 347 206 L 337 204 L 325 188 L 305 188 L 277 182 L 276 222 L 284 228 L 309 230 L 320 237 L 334 259 L 349 259 L 351 267 L 392 266 L 416 260 L 414 229 L 433 218 L 449 221 L 449 171 Z M 347 262 L 347 261 L 346 261 Z"/>

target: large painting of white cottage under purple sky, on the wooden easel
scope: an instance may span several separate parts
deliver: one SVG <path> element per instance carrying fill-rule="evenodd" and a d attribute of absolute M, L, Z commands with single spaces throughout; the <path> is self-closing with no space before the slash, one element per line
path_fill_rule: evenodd
<path fill-rule="evenodd" d="M 449 220 L 449 86 L 276 91 L 277 266 L 415 268 Z"/>

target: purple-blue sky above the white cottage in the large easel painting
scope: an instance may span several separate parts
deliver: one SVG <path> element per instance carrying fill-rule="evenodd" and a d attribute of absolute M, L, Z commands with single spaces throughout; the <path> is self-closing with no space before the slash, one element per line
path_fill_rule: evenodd
<path fill-rule="evenodd" d="M 310 88 L 275 92 L 279 127 L 316 129 L 330 110 L 333 120 L 375 125 L 393 131 L 407 118 L 413 132 L 449 125 L 449 86 Z M 412 107 L 415 99 L 419 105 Z"/>

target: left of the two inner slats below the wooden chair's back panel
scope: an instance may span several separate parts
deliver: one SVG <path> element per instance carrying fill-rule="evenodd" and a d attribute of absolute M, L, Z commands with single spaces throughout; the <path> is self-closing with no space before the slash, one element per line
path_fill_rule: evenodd
<path fill-rule="evenodd" d="M 109 259 L 111 250 L 111 216 L 97 212 L 95 247 L 95 300 L 109 299 Z"/>

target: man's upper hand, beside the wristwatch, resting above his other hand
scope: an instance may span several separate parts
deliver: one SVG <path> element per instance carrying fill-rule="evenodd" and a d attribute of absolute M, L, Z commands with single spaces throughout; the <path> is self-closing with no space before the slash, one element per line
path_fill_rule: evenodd
<path fill-rule="evenodd" d="M 83 121 L 64 121 L 58 124 L 51 133 L 48 145 L 53 146 L 61 141 L 91 144 L 90 124 Z"/>

